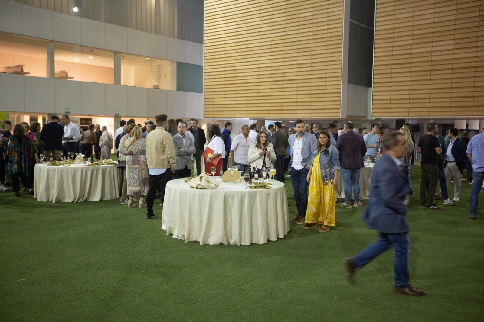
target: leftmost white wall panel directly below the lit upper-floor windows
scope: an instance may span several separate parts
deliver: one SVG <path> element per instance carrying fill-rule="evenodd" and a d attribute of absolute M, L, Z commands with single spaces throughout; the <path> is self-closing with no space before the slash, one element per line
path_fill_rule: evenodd
<path fill-rule="evenodd" d="M 0 73 L 0 111 L 24 112 L 24 78 Z"/>

